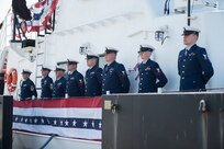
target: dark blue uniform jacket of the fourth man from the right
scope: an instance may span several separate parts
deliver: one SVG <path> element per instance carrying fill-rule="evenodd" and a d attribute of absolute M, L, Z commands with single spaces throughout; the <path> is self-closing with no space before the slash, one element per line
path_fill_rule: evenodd
<path fill-rule="evenodd" d="M 98 66 L 88 69 L 86 72 L 86 96 L 98 96 L 102 94 L 102 68 Z"/>

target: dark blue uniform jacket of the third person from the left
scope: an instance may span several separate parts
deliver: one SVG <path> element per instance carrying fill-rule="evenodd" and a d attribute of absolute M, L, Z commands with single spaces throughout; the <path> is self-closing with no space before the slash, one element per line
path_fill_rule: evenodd
<path fill-rule="evenodd" d="M 66 93 L 66 79 L 61 77 L 54 83 L 53 98 L 65 98 L 65 93 Z"/>

